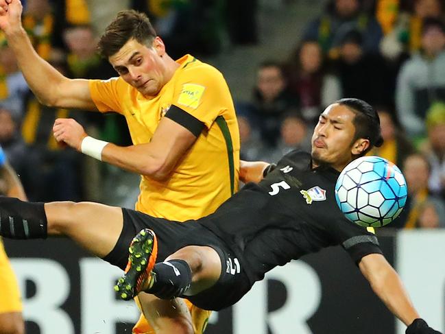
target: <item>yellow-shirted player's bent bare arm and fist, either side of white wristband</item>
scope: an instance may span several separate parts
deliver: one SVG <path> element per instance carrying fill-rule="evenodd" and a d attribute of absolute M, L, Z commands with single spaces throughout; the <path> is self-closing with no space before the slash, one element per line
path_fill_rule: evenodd
<path fill-rule="evenodd" d="M 82 152 L 82 141 L 87 134 L 75 120 L 56 119 L 53 132 L 57 141 L 64 141 L 75 150 Z M 195 140 L 196 136 L 187 128 L 164 117 L 152 141 L 127 147 L 106 143 L 101 151 L 101 160 L 154 180 L 163 181 L 168 178 Z"/>

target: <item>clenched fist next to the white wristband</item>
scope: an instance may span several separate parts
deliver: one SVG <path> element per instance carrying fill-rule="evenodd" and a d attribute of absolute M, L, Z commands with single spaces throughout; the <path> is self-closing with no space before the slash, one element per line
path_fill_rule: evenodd
<path fill-rule="evenodd" d="M 88 136 L 84 128 L 71 118 L 56 119 L 53 126 L 54 138 L 58 143 L 67 143 L 80 152 L 82 140 Z"/>

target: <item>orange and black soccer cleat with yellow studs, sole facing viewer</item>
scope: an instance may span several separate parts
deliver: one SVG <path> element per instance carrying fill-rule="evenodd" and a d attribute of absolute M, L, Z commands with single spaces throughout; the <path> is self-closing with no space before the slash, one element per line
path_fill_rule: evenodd
<path fill-rule="evenodd" d="M 152 285 L 152 270 L 158 255 L 158 241 L 152 230 L 145 228 L 133 238 L 125 274 L 117 280 L 119 298 L 130 300 Z"/>

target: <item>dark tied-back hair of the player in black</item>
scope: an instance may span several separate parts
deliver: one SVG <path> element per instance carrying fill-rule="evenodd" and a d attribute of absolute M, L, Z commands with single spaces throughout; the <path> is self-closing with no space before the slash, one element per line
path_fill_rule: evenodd
<path fill-rule="evenodd" d="M 339 99 L 336 104 L 346 106 L 352 112 L 355 117 L 352 123 L 355 127 L 355 135 L 352 142 L 357 141 L 359 138 L 368 139 L 370 141 L 370 147 L 365 150 L 361 156 L 365 155 L 372 147 L 381 147 L 383 145 L 383 138 L 380 128 L 380 118 L 374 108 L 367 102 L 361 99 Z"/>

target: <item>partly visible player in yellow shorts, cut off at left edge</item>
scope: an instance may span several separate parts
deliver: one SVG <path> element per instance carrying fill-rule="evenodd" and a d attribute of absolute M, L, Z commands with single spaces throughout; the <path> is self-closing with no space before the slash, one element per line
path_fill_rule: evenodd
<path fill-rule="evenodd" d="M 26 200 L 23 187 L 12 167 L 7 163 L 0 147 L 0 195 L 8 195 Z M 25 324 L 22 317 L 22 304 L 11 263 L 0 239 L 0 333 L 23 334 Z"/>

